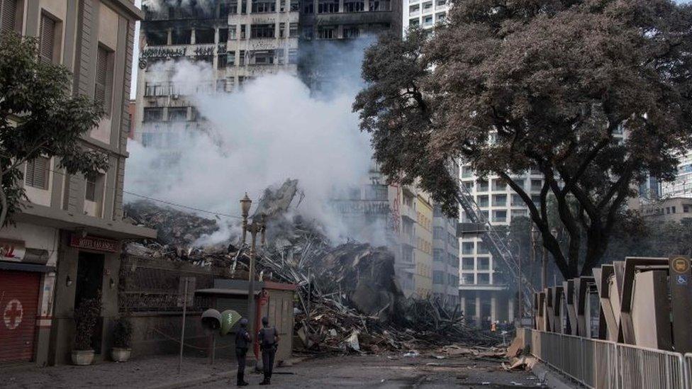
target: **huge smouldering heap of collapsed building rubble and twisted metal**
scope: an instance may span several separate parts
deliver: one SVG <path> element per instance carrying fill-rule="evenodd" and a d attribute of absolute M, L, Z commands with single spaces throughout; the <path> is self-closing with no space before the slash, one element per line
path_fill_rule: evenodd
<path fill-rule="evenodd" d="M 295 180 L 268 188 L 253 217 L 267 218 L 267 243 L 257 250 L 260 280 L 297 286 L 296 334 L 312 352 L 372 352 L 432 349 L 459 342 L 490 346 L 499 339 L 464 323 L 463 312 L 435 300 L 406 298 L 394 276 L 394 254 L 387 247 L 355 241 L 334 246 L 316 222 L 291 210 L 303 194 Z M 250 249 L 225 242 L 191 247 L 218 225 L 195 215 L 151 203 L 128 206 L 136 222 L 160 229 L 161 242 L 130 244 L 128 252 L 148 252 L 172 260 L 223 266 L 233 278 L 247 278 Z M 235 243 L 235 244 L 233 244 Z"/>

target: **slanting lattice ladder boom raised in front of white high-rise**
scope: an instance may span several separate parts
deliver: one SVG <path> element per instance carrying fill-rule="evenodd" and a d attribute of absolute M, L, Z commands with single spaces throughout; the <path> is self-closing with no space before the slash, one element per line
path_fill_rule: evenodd
<path fill-rule="evenodd" d="M 469 221 L 481 226 L 481 228 L 478 229 L 478 232 L 480 232 L 481 239 L 488 247 L 489 251 L 493 255 L 493 258 L 500 259 L 503 262 L 513 280 L 518 279 L 518 261 L 515 255 L 512 254 L 510 249 L 508 249 L 507 244 L 505 243 L 505 238 L 498 234 L 498 232 L 493 228 L 493 225 L 491 225 L 491 223 L 486 219 L 485 214 L 481 212 L 481 208 L 479 208 L 478 204 L 476 204 L 474 197 L 471 196 L 469 188 L 467 188 L 467 186 L 464 184 L 459 185 L 459 187 L 461 190 L 459 191 L 460 194 L 457 197 L 457 200 L 459 201 L 459 204 L 462 205 L 464 212 L 469 217 Z M 525 274 L 523 274 L 523 272 L 521 274 L 520 281 L 521 282 L 518 287 L 522 288 L 523 290 L 525 307 L 524 315 L 527 315 L 529 312 L 531 312 L 533 305 L 532 296 L 536 289 L 530 280 L 525 276 Z"/>

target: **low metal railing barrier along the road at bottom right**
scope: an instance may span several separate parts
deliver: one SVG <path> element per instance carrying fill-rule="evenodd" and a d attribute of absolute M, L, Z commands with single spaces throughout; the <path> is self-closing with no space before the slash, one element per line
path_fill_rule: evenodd
<path fill-rule="evenodd" d="M 531 354 L 588 388 L 692 389 L 692 354 L 522 329 Z"/>

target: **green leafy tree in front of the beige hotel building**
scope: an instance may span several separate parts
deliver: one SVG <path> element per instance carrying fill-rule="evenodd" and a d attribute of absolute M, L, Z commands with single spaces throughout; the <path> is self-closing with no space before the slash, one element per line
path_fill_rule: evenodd
<path fill-rule="evenodd" d="M 107 168 L 106 156 L 80 140 L 98 125 L 101 104 L 73 95 L 71 86 L 67 68 L 38 59 L 35 38 L 0 38 L 0 227 L 26 200 L 26 162 L 57 157 L 68 174 Z"/>

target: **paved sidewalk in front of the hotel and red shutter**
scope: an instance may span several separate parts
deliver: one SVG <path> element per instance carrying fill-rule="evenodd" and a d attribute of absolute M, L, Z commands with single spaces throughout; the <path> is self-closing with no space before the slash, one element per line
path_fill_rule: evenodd
<path fill-rule="evenodd" d="M 91 366 L 13 366 L 0 368 L 0 388 L 160 388 L 199 385 L 208 380 L 233 378 L 235 361 L 184 357 L 180 375 L 177 356 L 155 356 L 124 363 Z"/>

